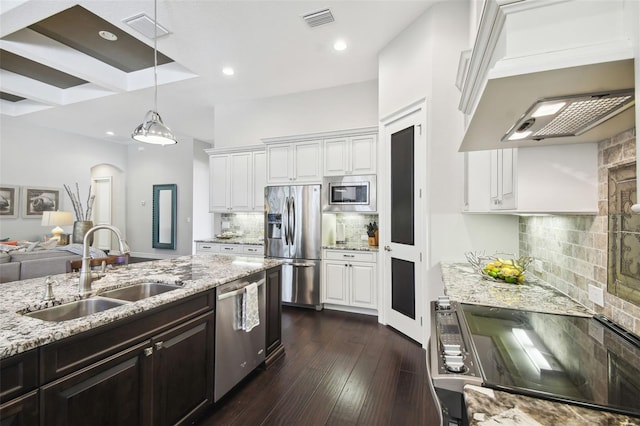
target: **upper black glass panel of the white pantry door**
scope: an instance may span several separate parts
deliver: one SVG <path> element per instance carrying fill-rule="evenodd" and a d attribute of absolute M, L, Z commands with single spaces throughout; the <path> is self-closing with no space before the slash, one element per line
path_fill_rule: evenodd
<path fill-rule="evenodd" d="M 391 242 L 414 245 L 414 126 L 391 135 Z"/>

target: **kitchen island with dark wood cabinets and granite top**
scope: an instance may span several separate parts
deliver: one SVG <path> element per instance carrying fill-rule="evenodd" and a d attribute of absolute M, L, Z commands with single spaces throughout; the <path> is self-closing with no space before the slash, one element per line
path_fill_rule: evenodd
<path fill-rule="evenodd" d="M 214 401 L 214 349 L 225 347 L 214 344 L 217 287 L 238 283 L 242 288 L 264 280 L 259 293 L 266 294 L 267 302 L 260 321 L 266 320 L 267 341 L 262 334 L 261 345 L 267 356 L 269 349 L 282 354 L 279 333 L 274 336 L 281 324 L 280 264 L 196 255 L 122 266 L 93 282 L 95 299 L 139 283 L 162 283 L 171 290 L 120 300 L 116 307 L 65 321 L 25 314 L 82 299 L 78 273 L 52 276 L 56 283 L 49 301 L 43 300 L 44 278 L 3 284 L 0 420 L 29 425 L 81 425 L 89 418 L 104 425 L 188 423 Z"/>

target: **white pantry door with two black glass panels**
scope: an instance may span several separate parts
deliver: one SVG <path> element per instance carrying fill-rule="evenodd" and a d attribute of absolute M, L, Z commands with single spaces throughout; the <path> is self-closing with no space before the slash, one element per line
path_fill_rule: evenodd
<path fill-rule="evenodd" d="M 384 124 L 383 224 L 385 322 L 423 344 L 422 263 L 426 216 L 422 194 L 426 180 L 426 105 L 420 102 Z"/>

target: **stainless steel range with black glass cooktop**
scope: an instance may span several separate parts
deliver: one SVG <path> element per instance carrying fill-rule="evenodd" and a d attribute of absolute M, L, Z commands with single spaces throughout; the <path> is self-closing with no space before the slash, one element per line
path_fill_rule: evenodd
<path fill-rule="evenodd" d="M 605 317 L 431 304 L 430 373 L 445 425 L 465 384 L 640 416 L 640 338 Z"/>

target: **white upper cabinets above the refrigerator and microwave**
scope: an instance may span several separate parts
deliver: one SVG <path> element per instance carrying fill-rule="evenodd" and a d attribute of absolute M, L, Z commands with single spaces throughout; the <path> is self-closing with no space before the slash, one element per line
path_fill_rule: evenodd
<path fill-rule="evenodd" d="M 267 184 L 322 183 L 324 176 L 375 174 L 377 127 L 263 139 Z"/>

